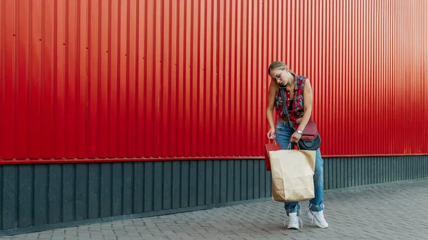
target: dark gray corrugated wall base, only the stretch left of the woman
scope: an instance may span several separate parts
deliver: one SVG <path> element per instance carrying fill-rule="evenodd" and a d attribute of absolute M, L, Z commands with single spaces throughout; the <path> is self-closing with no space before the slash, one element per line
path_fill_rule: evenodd
<path fill-rule="evenodd" d="M 0 169 L 0 230 L 271 196 L 270 172 L 263 160 L 2 165 Z"/>

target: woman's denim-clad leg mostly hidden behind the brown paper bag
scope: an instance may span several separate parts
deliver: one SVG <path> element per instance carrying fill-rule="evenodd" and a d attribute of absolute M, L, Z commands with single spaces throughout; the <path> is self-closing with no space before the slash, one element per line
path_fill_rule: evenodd
<path fill-rule="evenodd" d="M 290 145 L 290 137 L 291 137 L 291 131 L 290 127 L 288 127 L 287 123 L 284 122 L 277 122 L 277 125 L 275 127 L 276 132 L 276 142 L 280 144 L 280 147 L 282 150 L 288 149 Z M 290 145 L 290 149 L 292 149 L 292 145 Z M 296 212 L 297 216 L 300 215 L 300 206 L 299 202 L 285 202 L 284 204 L 285 211 L 287 212 L 287 216 L 289 216 L 290 213 Z"/>

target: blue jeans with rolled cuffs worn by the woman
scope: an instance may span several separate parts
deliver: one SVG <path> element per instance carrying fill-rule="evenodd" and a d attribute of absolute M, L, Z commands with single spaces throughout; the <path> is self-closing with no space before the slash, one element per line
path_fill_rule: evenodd
<path fill-rule="evenodd" d="M 291 126 L 293 126 L 291 124 Z M 286 150 L 290 144 L 290 137 L 292 135 L 288 123 L 277 121 L 276 125 L 276 142 L 280 144 L 281 149 Z M 290 147 L 292 149 L 292 147 Z M 324 199 L 322 199 L 322 190 L 324 187 L 324 161 L 321 158 L 320 149 L 317 149 L 315 155 L 315 174 L 314 174 L 314 188 L 315 197 L 309 201 L 309 209 L 314 212 L 320 212 L 324 209 Z M 285 211 L 288 214 L 297 212 L 300 215 L 300 206 L 298 202 L 285 202 Z"/>

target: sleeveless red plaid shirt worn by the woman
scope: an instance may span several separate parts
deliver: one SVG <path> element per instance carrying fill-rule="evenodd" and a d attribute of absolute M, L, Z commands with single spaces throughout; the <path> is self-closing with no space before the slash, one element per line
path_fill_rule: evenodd
<path fill-rule="evenodd" d="M 303 117 L 303 90 L 305 89 L 305 80 L 306 78 L 300 75 L 295 75 L 295 98 L 292 101 L 292 105 L 290 106 L 290 91 L 287 88 L 285 90 L 285 105 L 288 106 L 288 116 L 290 117 L 291 122 L 296 122 L 298 118 Z M 278 90 L 278 93 L 275 97 L 275 109 L 277 115 L 280 117 L 287 119 L 285 113 L 283 112 L 283 104 L 282 104 L 282 95 L 281 90 Z"/>

